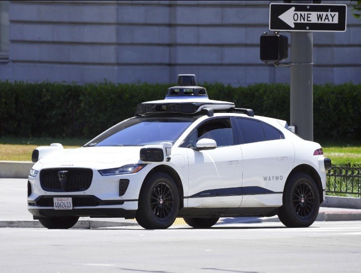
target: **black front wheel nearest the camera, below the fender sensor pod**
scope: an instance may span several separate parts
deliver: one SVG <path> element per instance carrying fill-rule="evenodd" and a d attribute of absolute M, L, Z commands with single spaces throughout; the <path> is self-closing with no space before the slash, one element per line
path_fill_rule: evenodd
<path fill-rule="evenodd" d="M 146 229 L 165 229 L 171 226 L 179 208 L 179 193 L 174 180 L 156 172 L 147 178 L 140 189 L 135 219 Z"/>

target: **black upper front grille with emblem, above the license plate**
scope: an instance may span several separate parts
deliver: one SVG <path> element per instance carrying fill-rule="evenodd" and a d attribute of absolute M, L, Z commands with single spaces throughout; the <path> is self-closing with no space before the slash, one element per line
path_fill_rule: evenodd
<path fill-rule="evenodd" d="M 66 182 L 61 184 L 58 172 L 67 171 Z M 93 179 L 93 171 L 91 169 L 80 168 L 57 168 L 44 169 L 40 172 L 40 184 L 46 191 L 83 191 L 90 187 Z"/>

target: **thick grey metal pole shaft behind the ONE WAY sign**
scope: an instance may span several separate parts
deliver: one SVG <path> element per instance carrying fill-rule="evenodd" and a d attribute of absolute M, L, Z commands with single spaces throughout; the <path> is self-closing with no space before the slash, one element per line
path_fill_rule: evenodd
<path fill-rule="evenodd" d="M 292 1 L 304 3 L 308 1 Z M 312 1 L 311 1 L 312 3 Z M 291 32 L 290 123 L 297 134 L 313 141 L 313 33 Z"/>

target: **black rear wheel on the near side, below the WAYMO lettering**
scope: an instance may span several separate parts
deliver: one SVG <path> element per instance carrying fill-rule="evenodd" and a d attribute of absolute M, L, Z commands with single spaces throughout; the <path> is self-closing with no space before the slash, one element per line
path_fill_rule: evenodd
<path fill-rule="evenodd" d="M 278 218 L 287 227 L 310 226 L 318 215 L 319 192 L 316 182 L 305 173 L 298 173 L 286 183 L 283 205 Z"/>

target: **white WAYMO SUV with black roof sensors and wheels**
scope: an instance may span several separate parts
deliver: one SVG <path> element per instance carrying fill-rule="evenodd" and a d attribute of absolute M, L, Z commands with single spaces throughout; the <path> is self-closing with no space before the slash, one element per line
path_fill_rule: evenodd
<path fill-rule="evenodd" d="M 274 216 L 311 225 L 324 200 L 331 160 L 285 121 L 209 100 L 194 75 L 179 75 L 166 98 L 77 149 L 38 147 L 28 210 L 47 228 L 80 216 L 135 218 L 167 228 L 176 217 L 208 228 L 219 217 Z"/>

